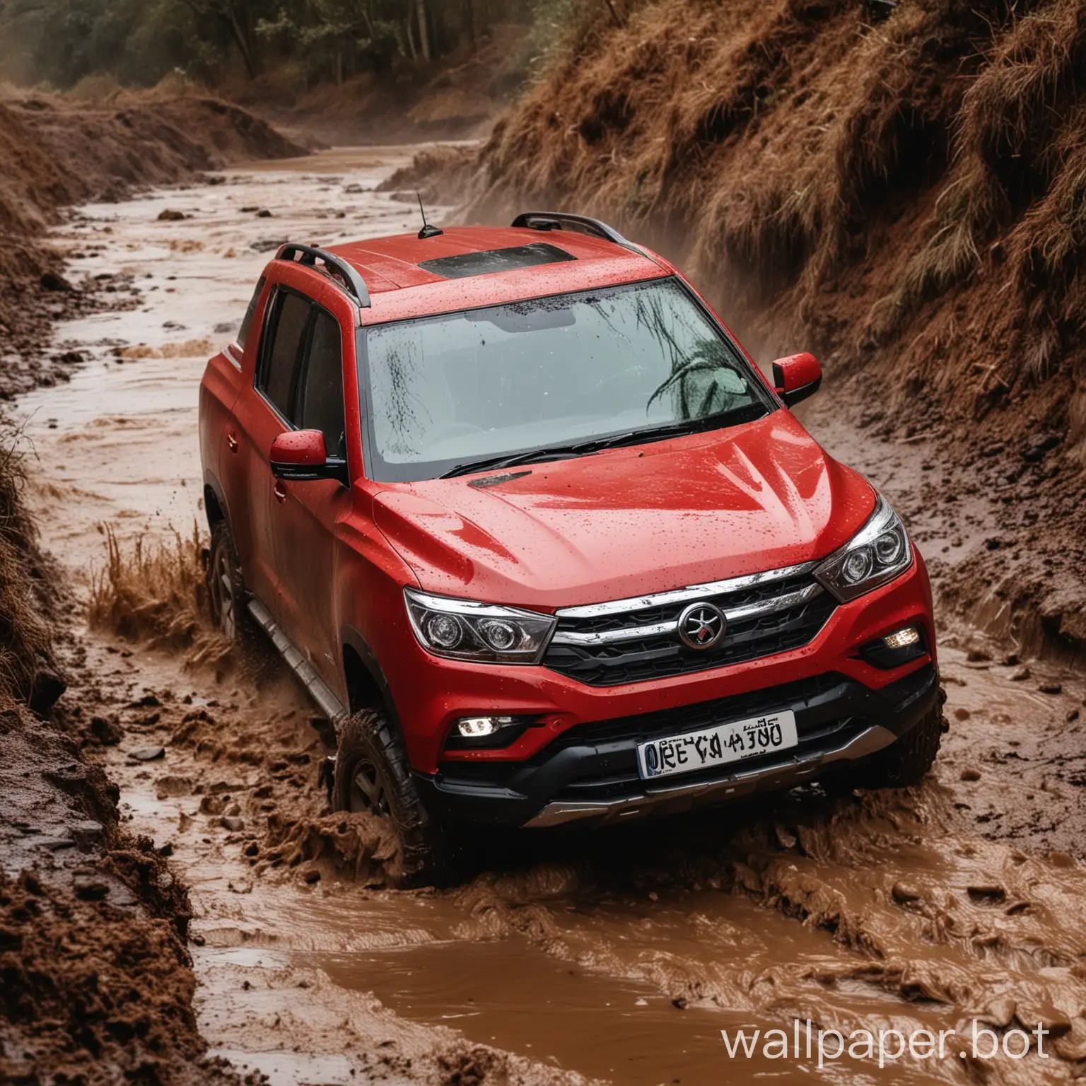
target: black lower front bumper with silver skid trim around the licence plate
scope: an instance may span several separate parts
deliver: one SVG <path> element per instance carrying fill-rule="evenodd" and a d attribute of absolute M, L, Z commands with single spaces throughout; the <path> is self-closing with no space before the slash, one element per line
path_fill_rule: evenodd
<path fill-rule="evenodd" d="M 695 806 L 792 787 L 895 742 L 938 704 L 931 662 L 881 690 L 831 672 L 678 709 L 576 725 L 527 761 L 445 761 L 416 773 L 439 816 L 476 823 L 553 826 L 678 813 Z M 791 709 L 798 746 L 649 785 L 636 769 L 639 742 L 712 723 Z"/>

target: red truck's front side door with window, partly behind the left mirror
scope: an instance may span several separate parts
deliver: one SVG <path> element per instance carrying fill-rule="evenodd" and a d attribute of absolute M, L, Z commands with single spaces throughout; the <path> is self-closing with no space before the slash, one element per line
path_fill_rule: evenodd
<path fill-rule="evenodd" d="M 290 417 L 295 429 L 320 430 L 328 455 L 345 460 L 343 346 L 339 321 L 314 305 Z M 331 479 L 280 480 L 275 494 L 272 518 L 280 624 L 326 681 L 334 682 L 336 526 L 349 508 L 350 491 Z"/>

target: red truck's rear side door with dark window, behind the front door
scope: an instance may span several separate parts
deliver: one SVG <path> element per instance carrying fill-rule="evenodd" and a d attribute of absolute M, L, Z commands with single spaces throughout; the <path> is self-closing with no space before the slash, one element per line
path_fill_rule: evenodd
<path fill-rule="evenodd" d="M 285 484 L 272 475 L 272 444 L 289 429 L 302 352 L 313 303 L 285 287 L 276 287 L 256 359 L 253 387 L 238 397 L 238 456 L 247 481 L 241 498 L 245 518 L 239 541 L 245 584 L 283 621 L 280 581 L 275 553 L 273 513 L 286 497 Z M 237 519 L 237 514 L 235 514 Z"/>

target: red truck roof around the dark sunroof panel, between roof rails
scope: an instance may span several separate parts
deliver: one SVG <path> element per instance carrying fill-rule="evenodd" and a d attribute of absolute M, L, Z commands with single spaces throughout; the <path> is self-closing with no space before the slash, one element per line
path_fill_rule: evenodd
<path fill-rule="evenodd" d="M 446 266 L 455 266 L 464 262 L 450 258 L 523 247 L 532 247 L 536 252 L 553 247 L 560 254 L 545 263 L 517 266 L 514 260 L 507 262 L 510 266 L 500 270 L 460 273 L 455 278 L 426 266 L 431 262 L 439 262 L 440 266 L 440 262 L 446 261 Z M 457 226 L 430 238 L 397 233 L 328 245 L 327 250 L 352 265 L 366 282 L 370 306 L 361 311 L 363 324 L 450 313 L 671 274 L 662 262 L 632 247 L 577 230 L 530 227 Z"/>

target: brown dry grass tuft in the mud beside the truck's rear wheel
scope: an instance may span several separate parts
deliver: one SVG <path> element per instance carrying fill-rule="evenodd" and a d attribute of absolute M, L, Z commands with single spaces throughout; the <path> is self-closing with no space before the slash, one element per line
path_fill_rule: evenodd
<path fill-rule="evenodd" d="M 189 665 L 222 666 L 230 643 L 212 624 L 204 542 L 174 533 L 169 543 L 139 536 L 124 545 L 105 527 L 106 564 L 91 576 L 91 626 L 151 647 L 182 649 Z"/>

